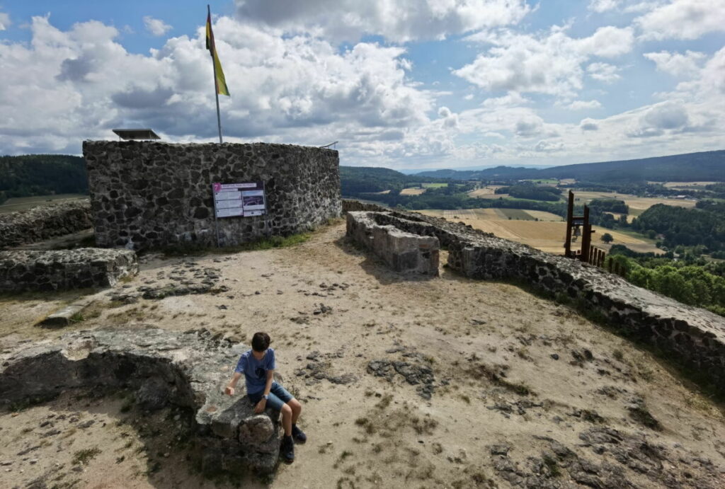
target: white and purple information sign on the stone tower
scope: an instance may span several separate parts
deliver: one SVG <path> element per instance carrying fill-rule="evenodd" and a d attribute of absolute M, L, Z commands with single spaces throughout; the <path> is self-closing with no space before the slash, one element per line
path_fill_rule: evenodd
<path fill-rule="evenodd" d="M 216 217 L 250 217 L 267 213 L 264 182 L 212 183 Z"/>

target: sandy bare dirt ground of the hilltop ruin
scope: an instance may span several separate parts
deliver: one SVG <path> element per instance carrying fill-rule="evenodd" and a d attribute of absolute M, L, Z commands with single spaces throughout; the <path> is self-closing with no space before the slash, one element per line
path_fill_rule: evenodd
<path fill-rule="evenodd" d="M 101 388 L 0 413 L 1 488 L 44 487 L 32 485 L 43 475 L 58 488 L 725 486 L 722 406 L 565 306 L 446 267 L 389 272 L 343 222 L 290 248 L 151 257 L 112 292 L 188 260 L 220 269 L 228 291 L 126 305 L 101 291 L 62 330 L 36 323 L 81 293 L 0 298 L 0 348 L 109 326 L 247 343 L 265 330 L 304 405 L 294 463 L 271 480 L 208 480 L 187 459 L 181 413 L 138 412 Z"/>

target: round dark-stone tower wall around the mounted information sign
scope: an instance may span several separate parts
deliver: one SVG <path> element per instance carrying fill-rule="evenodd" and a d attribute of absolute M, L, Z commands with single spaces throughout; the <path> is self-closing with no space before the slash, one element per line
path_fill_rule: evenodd
<path fill-rule="evenodd" d="M 84 141 L 99 246 L 221 246 L 310 230 L 341 213 L 337 151 L 283 144 Z M 268 213 L 215 225 L 212 183 L 263 181 Z"/>

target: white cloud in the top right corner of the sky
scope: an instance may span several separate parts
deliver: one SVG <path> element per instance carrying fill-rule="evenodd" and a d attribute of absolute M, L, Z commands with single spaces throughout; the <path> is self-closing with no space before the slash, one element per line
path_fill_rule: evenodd
<path fill-rule="evenodd" d="M 637 17 L 645 39 L 697 39 L 725 31 L 725 1 L 673 0 Z"/>

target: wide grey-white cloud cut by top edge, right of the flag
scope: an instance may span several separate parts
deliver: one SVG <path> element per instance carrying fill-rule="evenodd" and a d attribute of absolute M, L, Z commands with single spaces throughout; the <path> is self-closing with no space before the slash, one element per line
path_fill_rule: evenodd
<path fill-rule="evenodd" d="M 383 35 L 391 41 L 441 39 L 516 24 L 531 11 L 525 0 L 236 0 L 241 20 L 286 32 L 321 33 L 357 41 Z"/>

